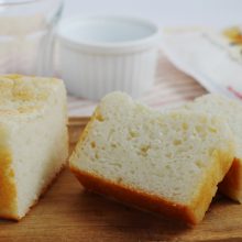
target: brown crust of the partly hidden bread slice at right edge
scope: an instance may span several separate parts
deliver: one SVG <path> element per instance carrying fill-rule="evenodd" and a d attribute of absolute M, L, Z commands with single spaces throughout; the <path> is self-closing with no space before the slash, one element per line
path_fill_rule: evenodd
<path fill-rule="evenodd" d="M 219 185 L 219 190 L 228 197 L 242 204 L 242 161 L 234 158 L 233 164 L 224 179 Z"/>

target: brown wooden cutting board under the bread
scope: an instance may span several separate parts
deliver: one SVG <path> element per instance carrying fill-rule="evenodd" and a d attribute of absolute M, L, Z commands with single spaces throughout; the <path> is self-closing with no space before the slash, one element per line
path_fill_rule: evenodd
<path fill-rule="evenodd" d="M 88 118 L 69 120 L 70 148 Z M 66 168 L 20 222 L 0 220 L 0 241 L 242 241 L 242 205 L 222 196 L 195 228 L 85 191 Z"/>

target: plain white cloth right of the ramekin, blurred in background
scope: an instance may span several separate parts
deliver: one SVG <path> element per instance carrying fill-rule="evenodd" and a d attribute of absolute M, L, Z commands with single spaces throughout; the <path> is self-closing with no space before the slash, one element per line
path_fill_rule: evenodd
<path fill-rule="evenodd" d="M 168 31 L 164 34 L 163 51 L 177 68 L 208 91 L 242 99 L 241 63 L 208 33 L 202 29 Z"/>

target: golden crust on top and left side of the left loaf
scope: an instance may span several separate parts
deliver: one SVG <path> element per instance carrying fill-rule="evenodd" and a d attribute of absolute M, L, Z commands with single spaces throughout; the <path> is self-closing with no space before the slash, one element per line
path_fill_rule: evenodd
<path fill-rule="evenodd" d="M 21 117 L 22 121 L 40 118 L 37 111 L 46 106 L 48 99 L 53 99 L 53 90 L 57 88 L 61 97 L 65 98 L 64 84 L 59 79 L 18 74 L 0 76 L 0 218 L 21 219 L 18 216 L 18 182 L 12 167 L 12 151 L 8 145 L 12 143 L 8 142 L 7 133 L 11 130 L 9 116 L 14 114 L 11 117 L 14 122 L 23 113 L 26 116 Z M 66 103 L 63 108 L 66 109 Z"/>

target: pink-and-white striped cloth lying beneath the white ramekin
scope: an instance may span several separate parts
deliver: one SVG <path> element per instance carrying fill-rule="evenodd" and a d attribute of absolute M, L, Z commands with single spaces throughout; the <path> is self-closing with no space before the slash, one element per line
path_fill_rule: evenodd
<path fill-rule="evenodd" d="M 207 91 L 195 79 L 177 70 L 167 58 L 161 54 L 156 80 L 151 90 L 145 92 L 139 101 L 156 110 L 176 107 Z M 68 96 L 69 117 L 91 116 L 97 102 Z"/>

